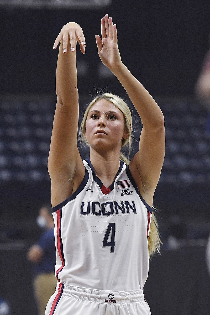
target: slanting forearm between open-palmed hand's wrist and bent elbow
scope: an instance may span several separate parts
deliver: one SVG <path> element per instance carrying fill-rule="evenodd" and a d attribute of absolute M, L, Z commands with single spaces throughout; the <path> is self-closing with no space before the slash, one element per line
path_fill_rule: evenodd
<path fill-rule="evenodd" d="M 122 63 L 115 69 L 111 69 L 120 81 L 134 107 L 136 108 L 142 124 L 145 128 L 159 128 L 164 124 L 164 117 L 160 107 L 141 83 L 131 74 Z"/>

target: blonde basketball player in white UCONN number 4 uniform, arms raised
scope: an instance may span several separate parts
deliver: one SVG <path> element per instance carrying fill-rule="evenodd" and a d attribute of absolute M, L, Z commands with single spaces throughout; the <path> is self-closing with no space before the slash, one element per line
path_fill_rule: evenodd
<path fill-rule="evenodd" d="M 130 164 L 122 155 L 121 147 L 131 143 L 131 112 L 121 98 L 104 93 L 83 117 L 80 135 L 90 147 L 90 158 L 82 161 L 77 149 L 76 43 L 84 54 L 85 37 L 77 23 L 67 23 L 54 43 L 60 48 L 48 171 L 58 284 L 46 315 L 150 314 L 143 286 L 149 257 L 160 246 L 152 203 L 164 158 L 164 118 L 122 63 L 116 24 L 107 14 L 101 19 L 101 36 L 96 35 L 99 57 L 142 120 L 139 152 Z"/>

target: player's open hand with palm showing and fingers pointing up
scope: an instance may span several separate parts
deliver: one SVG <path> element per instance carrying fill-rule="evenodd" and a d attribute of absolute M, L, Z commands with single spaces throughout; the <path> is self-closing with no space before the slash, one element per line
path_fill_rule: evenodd
<path fill-rule="evenodd" d="M 117 46 L 116 24 L 113 25 L 108 14 L 101 19 L 101 37 L 95 36 L 99 57 L 110 70 L 115 69 L 120 65 L 121 57 Z"/>

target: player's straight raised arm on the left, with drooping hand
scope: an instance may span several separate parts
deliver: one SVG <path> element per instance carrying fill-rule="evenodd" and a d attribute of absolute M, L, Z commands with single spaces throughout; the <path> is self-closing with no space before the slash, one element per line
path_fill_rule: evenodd
<path fill-rule="evenodd" d="M 48 157 L 53 206 L 68 198 L 84 175 L 82 159 L 77 149 L 77 41 L 84 54 L 85 38 L 82 28 L 77 23 L 70 22 L 63 26 L 53 46 L 56 49 L 60 43 L 56 69 L 57 104 Z"/>

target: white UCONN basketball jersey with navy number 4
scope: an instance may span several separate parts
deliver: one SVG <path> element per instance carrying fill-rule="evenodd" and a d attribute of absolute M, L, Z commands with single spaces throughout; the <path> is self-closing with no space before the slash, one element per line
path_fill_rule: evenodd
<path fill-rule="evenodd" d="M 59 282 L 99 290 L 142 289 L 148 276 L 152 209 L 120 162 L 108 189 L 90 159 L 70 198 L 53 208 Z"/>

